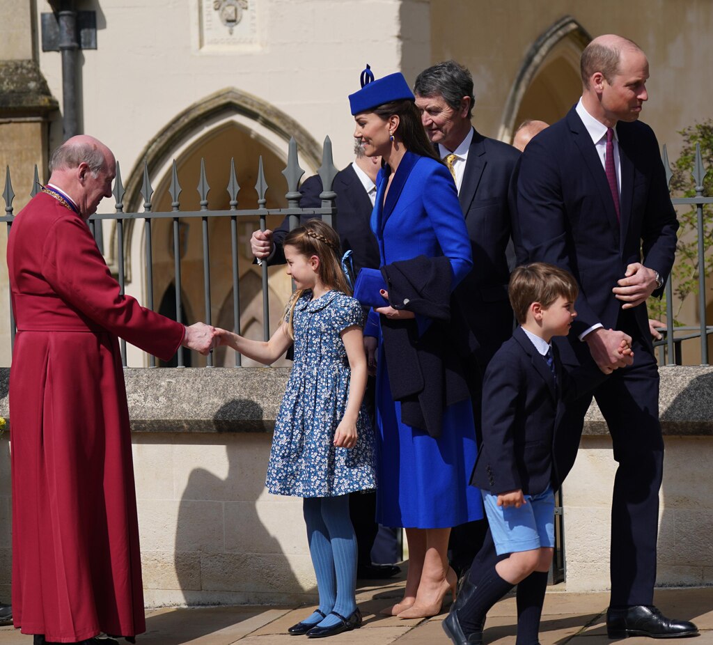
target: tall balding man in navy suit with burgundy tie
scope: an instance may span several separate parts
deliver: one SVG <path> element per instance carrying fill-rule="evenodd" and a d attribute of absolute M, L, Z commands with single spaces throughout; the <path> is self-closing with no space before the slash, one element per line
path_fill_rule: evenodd
<path fill-rule="evenodd" d="M 656 137 L 640 123 L 648 94 L 645 54 L 600 36 L 581 59 L 582 98 L 523 153 L 517 219 L 528 261 L 569 270 L 580 285 L 578 319 L 560 344 L 563 362 L 610 374 L 595 399 L 618 462 L 612 499 L 610 638 L 696 634 L 653 606 L 664 444 L 659 375 L 646 300 L 670 273 L 678 223 Z M 617 352 L 623 341 L 633 360 Z M 613 372 L 613 373 L 612 373 Z M 555 442 L 560 477 L 572 467 L 590 397 L 568 406 Z"/>

